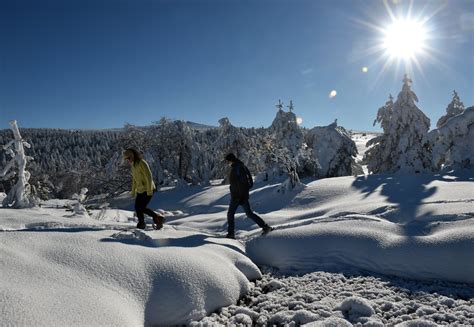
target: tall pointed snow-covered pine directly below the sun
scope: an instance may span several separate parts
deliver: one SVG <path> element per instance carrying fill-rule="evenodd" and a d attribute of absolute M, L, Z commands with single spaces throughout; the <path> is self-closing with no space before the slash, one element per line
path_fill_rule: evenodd
<path fill-rule="evenodd" d="M 392 106 L 382 107 L 377 120 L 384 133 L 367 143 L 364 160 L 371 173 L 424 172 L 432 170 L 428 143 L 430 120 L 418 109 L 418 98 L 406 75 L 401 92 Z"/>

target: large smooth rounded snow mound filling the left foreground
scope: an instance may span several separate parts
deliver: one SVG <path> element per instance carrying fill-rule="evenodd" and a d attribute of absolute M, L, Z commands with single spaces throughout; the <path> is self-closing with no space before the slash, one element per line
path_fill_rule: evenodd
<path fill-rule="evenodd" d="M 187 324 L 236 303 L 261 278 L 238 242 L 166 233 L 1 232 L 2 324 Z"/>

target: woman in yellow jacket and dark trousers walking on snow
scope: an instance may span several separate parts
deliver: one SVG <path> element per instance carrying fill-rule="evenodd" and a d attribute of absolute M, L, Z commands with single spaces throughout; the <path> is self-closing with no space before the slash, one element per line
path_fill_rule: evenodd
<path fill-rule="evenodd" d="M 123 157 L 132 168 L 133 182 L 131 193 L 133 196 L 136 196 L 135 211 L 138 218 L 137 228 L 146 228 L 145 214 L 147 214 L 153 218 L 153 227 L 155 229 L 161 229 L 163 227 L 164 218 L 153 210 L 147 208 L 148 203 L 150 203 L 150 200 L 153 197 L 153 193 L 156 191 L 148 163 L 143 160 L 140 153 L 133 148 L 125 150 Z"/>

